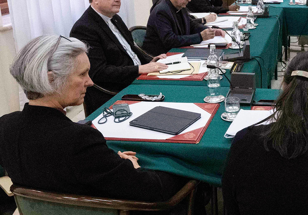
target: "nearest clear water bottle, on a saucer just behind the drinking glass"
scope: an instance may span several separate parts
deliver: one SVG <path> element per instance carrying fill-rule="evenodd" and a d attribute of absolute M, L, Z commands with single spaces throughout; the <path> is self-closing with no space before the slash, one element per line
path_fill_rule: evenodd
<path fill-rule="evenodd" d="M 215 61 L 210 61 L 209 65 L 216 65 Z M 216 103 L 220 102 L 220 76 L 217 74 L 215 69 L 208 70 L 208 81 L 207 85 L 209 87 L 209 102 Z"/>

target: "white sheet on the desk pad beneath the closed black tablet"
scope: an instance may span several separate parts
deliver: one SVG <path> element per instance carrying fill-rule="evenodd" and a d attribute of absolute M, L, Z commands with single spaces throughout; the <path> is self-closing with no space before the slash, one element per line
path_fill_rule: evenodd
<path fill-rule="evenodd" d="M 164 94 L 164 92 L 163 92 Z M 185 133 L 188 131 L 192 131 L 194 129 L 198 129 L 204 127 L 208 122 L 211 114 L 207 111 L 203 110 L 202 108 L 198 107 L 193 103 L 174 103 L 174 102 L 138 102 L 135 104 L 129 105 L 130 111 L 133 115 L 126 121 L 121 123 L 115 123 L 113 121 L 113 116 L 108 117 L 108 120 L 104 124 L 98 124 L 97 122 L 103 114 L 100 114 L 97 118 L 95 118 L 92 123 L 95 127 L 104 135 L 104 137 L 117 137 L 117 138 L 135 138 L 135 139 L 158 139 L 158 140 L 165 140 L 167 138 L 173 137 L 172 134 L 161 133 L 158 131 L 152 131 L 148 129 L 142 129 L 134 126 L 130 126 L 129 122 L 133 119 L 139 117 L 140 115 L 144 114 L 145 112 L 149 111 L 150 109 L 157 107 L 157 106 L 164 106 L 169 108 L 175 108 L 180 110 L 186 110 L 196 113 L 201 113 L 201 118 L 197 120 L 195 123 L 190 125 L 181 133 Z M 180 133 L 180 134 L 181 134 Z"/>

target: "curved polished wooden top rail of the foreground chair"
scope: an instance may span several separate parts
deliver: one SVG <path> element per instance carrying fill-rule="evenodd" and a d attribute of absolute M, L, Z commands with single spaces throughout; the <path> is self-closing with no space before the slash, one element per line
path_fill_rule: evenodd
<path fill-rule="evenodd" d="M 109 199 L 102 197 L 90 197 L 74 194 L 63 194 L 56 192 L 46 192 L 37 189 L 27 189 L 21 186 L 12 185 L 10 190 L 15 195 L 33 198 L 43 201 L 51 201 L 61 204 L 87 206 L 94 208 L 110 208 L 119 210 L 167 210 L 174 207 L 184 197 L 191 193 L 199 182 L 191 180 L 184 185 L 173 197 L 164 202 L 147 202 L 121 199 Z"/>

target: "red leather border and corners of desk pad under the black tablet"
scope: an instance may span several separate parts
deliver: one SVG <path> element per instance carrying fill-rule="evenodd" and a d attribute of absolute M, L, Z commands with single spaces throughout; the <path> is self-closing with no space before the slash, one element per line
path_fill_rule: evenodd
<path fill-rule="evenodd" d="M 116 101 L 114 104 L 120 104 L 118 102 L 123 101 Z M 125 102 L 133 102 L 138 103 L 136 101 L 125 101 Z M 211 114 L 208 122 L 204 127 L 188 131 L 182 134 L 178 134 L 174 137 L 170 137 L 166 140 L 156 140 L 156 139 L 138 139 L 138 138 L 117 138 L 117 137 L 105 137 L 106 140 L 113 140 L 113 141 L 142 141 L 142 142 L 164 142 L 164 143 L 190 143 L 190 144 L 197 144 L 200 142 L 203 134 L 205 133 L 206 129 L 209 127 L 210 122 L 212 121 L 213 117 L 215 116 L 220 104 L 209 104 L 209 103 L 194 103 L 198 107 L 204 109 L 208 113 Z M 110 106 L 112 107 L 112 106 Z M 91 127 L 97 129 L 93 124 Z"/>

